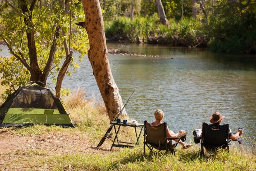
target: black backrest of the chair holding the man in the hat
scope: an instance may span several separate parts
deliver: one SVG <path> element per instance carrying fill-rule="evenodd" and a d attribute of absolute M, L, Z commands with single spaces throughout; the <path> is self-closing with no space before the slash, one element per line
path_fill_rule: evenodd
<path fill-rule="evenodd" d="M 227 145 L 228 144 L 228 124 L 224 125 L 208 125 L 203 123 L 202 137 L 204 138 L 203 144 L 205 145 Z"/>

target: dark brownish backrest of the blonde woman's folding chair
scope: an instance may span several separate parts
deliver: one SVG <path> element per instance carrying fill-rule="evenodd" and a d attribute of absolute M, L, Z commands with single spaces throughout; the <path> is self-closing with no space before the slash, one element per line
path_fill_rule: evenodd
<path fill-rule="evenodd" d="M 147 143 L 151 144 L 164 144 L 166 136 L 166 122 L 152 126 L 148 121 L 144 121 L 145 134 L 147 135 Z"/>

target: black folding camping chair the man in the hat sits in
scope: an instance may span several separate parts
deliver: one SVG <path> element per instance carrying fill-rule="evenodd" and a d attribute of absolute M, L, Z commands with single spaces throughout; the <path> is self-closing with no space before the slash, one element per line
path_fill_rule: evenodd
<path fill-rule="evenodd" d="M 228 124 L 224 125 L 208 125 L 203 122 L 202 140 L 201 140 L 201 156 L 204 155 L 204 148 L 208 151 L 216 151 L 217 149 L 226 149 L 229 152 Z"/>

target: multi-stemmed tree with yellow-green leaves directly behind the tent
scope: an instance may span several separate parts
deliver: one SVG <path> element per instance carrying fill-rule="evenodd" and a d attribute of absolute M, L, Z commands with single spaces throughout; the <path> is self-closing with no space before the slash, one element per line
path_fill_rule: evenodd
<path fill-rule="evenodd" d="M 60 96 L 62 80 L 72 72 L 68 66 L 79 67 L 73 51 L 79 52 L 80 60 L 87 53 L 87 34 L 75 25 L 83 12 L 77 0 L 5 0 L 0 4 L 0 39 L 12 55 L 0 60 L 1 84 L 10 86 L 6 93 L 28 81 L 46 84 L 52 79 Z"/>

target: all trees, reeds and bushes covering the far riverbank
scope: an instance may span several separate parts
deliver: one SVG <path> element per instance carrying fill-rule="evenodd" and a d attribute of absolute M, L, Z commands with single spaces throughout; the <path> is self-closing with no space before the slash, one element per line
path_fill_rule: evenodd
<path fill-rule="evenodd" d="M 256 53 L 256 1 L 162 0 L 162 4 L 167 24 L 161 22 L 154 0 L 101 1 L 106 37 L 218 52 Z"/>

